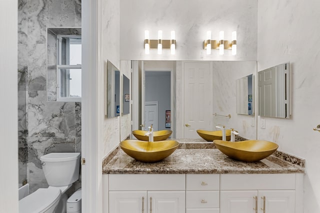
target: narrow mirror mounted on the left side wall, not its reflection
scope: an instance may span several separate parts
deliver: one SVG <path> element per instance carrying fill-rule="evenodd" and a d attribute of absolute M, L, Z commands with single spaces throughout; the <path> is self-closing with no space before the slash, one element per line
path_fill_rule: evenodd
<path fill-rule="evenodd" d="M 105 115 L 113 118 L 120 115 L 120 71 L 109 60 L 106 63 Z"/>

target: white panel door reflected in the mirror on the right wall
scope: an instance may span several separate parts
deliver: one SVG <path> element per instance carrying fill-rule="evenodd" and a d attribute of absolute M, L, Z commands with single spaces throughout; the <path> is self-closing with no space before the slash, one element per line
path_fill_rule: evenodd
<path fill-rule="evenodd" d="M 276 92 L 276 76 L 272 68 L 269 68 L 265 72 L 258 72 L 258 97 L 259 97 L 259 113 L 260 116 L 276 116 L 276 103 L 275 101 L 266 100 L 276 100 L 274 97 Z M 261 97 L 264 97 L 262 99 Z"/>

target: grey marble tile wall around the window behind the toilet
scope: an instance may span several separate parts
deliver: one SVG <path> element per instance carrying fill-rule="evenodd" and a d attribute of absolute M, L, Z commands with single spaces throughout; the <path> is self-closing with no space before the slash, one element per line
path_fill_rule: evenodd
<path fill-rule="evenodd" d="M 46 27 L 74 26 L 81 0 L 18 0 L 19 183 L 30 193 L 47 187 L 40 156 L 81 151 L 81 103 L 48 102 L 46 92 Z"/>

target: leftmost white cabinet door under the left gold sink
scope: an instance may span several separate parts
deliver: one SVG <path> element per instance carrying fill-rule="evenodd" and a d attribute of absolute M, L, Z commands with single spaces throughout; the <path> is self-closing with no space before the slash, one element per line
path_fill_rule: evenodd
<path fill-rule="evenodd" d="M 109 191 L 110 213 L 146 213 L 146 191 Z"/>

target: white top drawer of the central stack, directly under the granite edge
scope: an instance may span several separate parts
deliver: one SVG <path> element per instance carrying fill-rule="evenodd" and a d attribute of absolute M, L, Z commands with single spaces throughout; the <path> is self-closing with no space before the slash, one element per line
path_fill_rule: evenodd
<path fill-rule="evenodd" d="M 187 174 L 186 190 L 219 190 L 219 174 Z"/>

